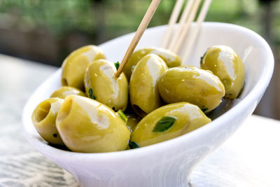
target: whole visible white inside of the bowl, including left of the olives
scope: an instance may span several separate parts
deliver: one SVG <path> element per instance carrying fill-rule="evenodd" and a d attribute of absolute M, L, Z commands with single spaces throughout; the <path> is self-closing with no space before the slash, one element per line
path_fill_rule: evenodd
<path fill-rule="evenodd" d="M 193 24 L 192 27 L 194 25 L 195 24 Z M 162 36 L 165 34 L 166 29 L 166 26 L 147 29 L 137 48 L 160 46 Z M 130 41 L 132 40 L 132 37 L 133 34 L 120 36 L 117 39 L 103 43 L 100 45 L 100 48 L 104 50 L 106 57 L 111 62 L 121 61 L 125 55 L 127 46 L 129 46 Z M 188 41 L 186 41 L 185 44 L 187 45 Z M 244 61 L 246 69 L 246 83 L 244 90 L 241 92 L 238 99 L 226 100 L 218 107 L 218 109 L 215 109 L 210 113 L 210 117 L 212 119 L 218 118 L 225 112 L 230 112 L 231 109 L 238 107 L 241 102 L 249 104 L 249 101 L 257 98 L 257 96 L 253 95 L 254 92 L 263 93 L 272 76 L 274 65 L 273 55 L 269 46 L 258 34 L 237 25 L 213 22 L 204 22 L 202 24 L 201 32 L 197 37 L 195 46 L 193 46 L 190 59 L 188 62 L 183 63 L 199 67 L 200 57 L 204 54 L 207 48 L 214 45 L 230 46 L 237 51 L 241 59 Z M 183 48 L 179 55 L 183 54 Z M 25 131 L 27 132 L 27 138 L 29 141 L 36 141 L 34 143 L 35 146 L 43 146 L 43 144 L 45 146 L 45 141 L 41 139 L 32 125 L 31 113 L 39 102 L 48 98 L 54 90 L 61 86 L 60 74 L 61 69 L 57 70 L 55 74 L 42 83 L 34 94 L 31 95 L 25 106 L 25 110 L 23 111 L 22 122 L 24 124 Z M 262 93 L 260 93 L 260 95 L 262 95 Z M 249 98 L 248 95 L 251 95 L 251 97 Z M 214 122 L 215 120 L 207 126 L 211 126 Z M 185 135 L 188 136 L 188 134 Z"/>

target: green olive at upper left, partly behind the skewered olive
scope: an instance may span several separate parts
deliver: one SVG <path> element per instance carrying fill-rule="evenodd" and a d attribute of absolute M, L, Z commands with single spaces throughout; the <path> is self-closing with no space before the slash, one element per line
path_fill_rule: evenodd
<path fill-rule="evenodd" d="M 74 50 L 62 64 L 62 85 L 84 90 L 85 69 L 98 59 L 105 59 L 105 55 L 97 46 L 83 46 Z"/>

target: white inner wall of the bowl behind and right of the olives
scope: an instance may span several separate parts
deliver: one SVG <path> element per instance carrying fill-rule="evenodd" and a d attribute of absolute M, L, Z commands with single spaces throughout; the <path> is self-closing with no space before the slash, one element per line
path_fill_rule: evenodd
<path fill-rule="evenodd" d="M 195 24 L 192 25 L 192 27 L 194 26 Z M 136 50 L 147 46 L 160 47 L 165 29 L 165 26 L 148 29 L 141 41 L 139 41 Z M 113 41 L 103 43 L 100 47 L 111 62 L 121 61 L 132 37 L 132 34 L 121 36 Z M 186 39 L 185 45 L 179 52 L 181 57 L 187 45 L 188 39 Z M 218 108 L 208 114 L 212 120 L 238 104 L 241 99 L 253 90 L 260 78 L 264 76 L 267 62 L 269 62 L 267 56 L 270 54 L 264 46 L 263 39 L 249 29 L 230 24 L 204 22 L 200 35 L 197 36 L 197 41 L 193 46 L 193 51 L 190 53 L 189 59 L 183 64 L 200 67 L 200 57 L 204 55 L 207 48 L 214 45 L 230 46 L 237 51 L 246 69 L 246 84 L 237 99 L 223 99 Z M 116 46 L 119 47 L 116 48 Z"/>

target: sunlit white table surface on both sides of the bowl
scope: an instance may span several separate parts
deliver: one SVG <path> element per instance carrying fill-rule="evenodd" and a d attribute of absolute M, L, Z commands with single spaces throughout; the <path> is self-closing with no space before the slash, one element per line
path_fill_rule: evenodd
<path fill-rule="evenodd" d="M 36 151 L 22 132 L 29 95 L 55 67 L 0 55 L 0 187 L 78 186 Z M 190 186 L 280 186 L 280 122 L 250 116 L 220 148 L 194 169 Z"/>

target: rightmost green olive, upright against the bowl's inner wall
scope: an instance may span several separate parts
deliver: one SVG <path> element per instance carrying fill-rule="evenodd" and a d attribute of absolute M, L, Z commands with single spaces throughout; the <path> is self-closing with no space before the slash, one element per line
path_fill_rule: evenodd
<path fill-rule="evenodd" d="M 229 46 L 212 46 L 200 62 L 201 68 L 212 71 L 225 86 L 225 97 L 235 99 L 245 82 L 244 64 Z"/>

